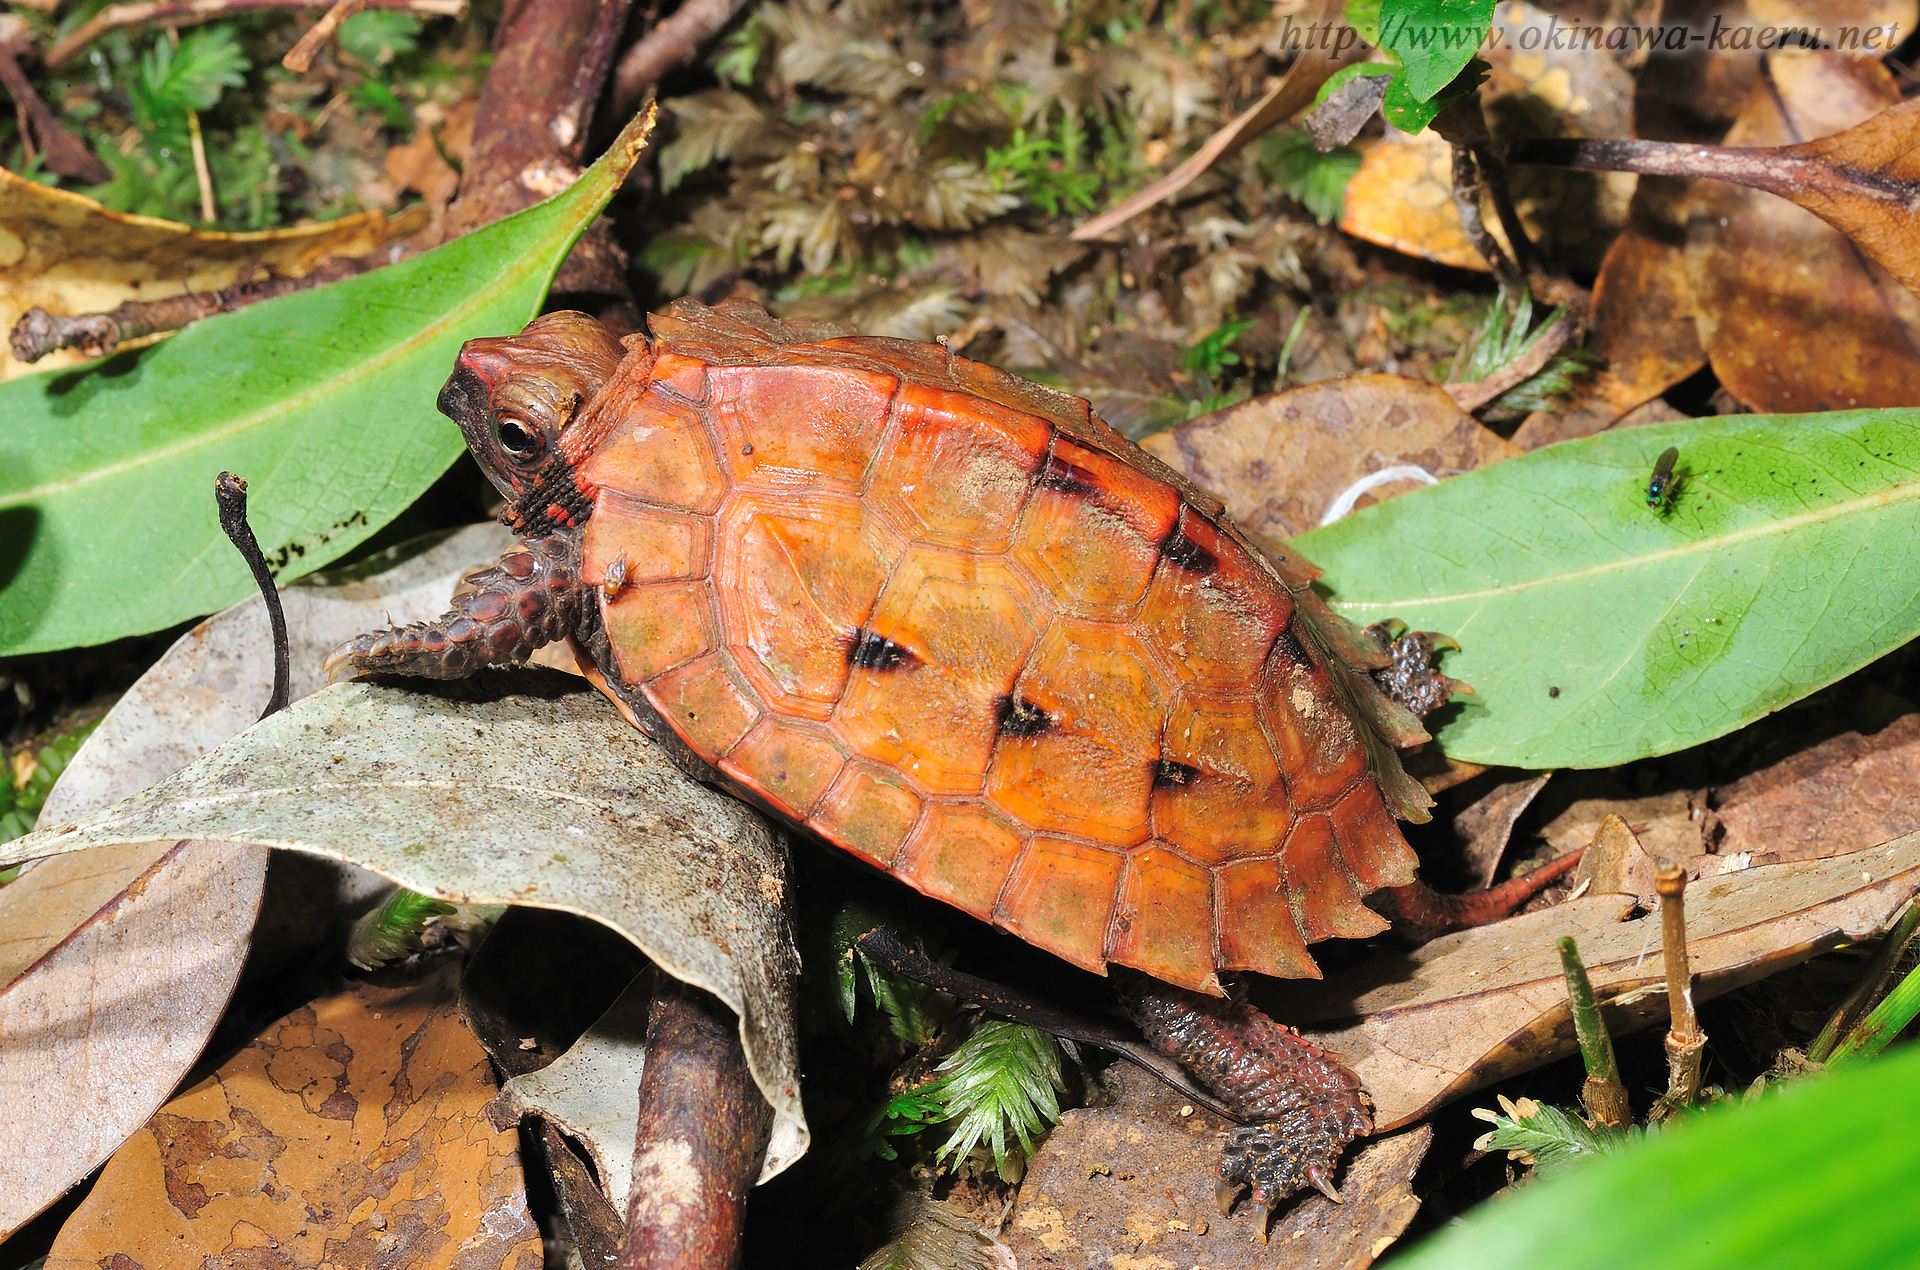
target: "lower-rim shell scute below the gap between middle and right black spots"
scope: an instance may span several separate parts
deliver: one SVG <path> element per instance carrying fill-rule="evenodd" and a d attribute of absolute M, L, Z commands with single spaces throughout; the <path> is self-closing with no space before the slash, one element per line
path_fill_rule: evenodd
<path fill-rule="evenodd" d="M 1033 838 L 1000 890 L 995 918 L 1075 966 L 1106 974 L 1106 932 L 1127 857 L 1064 838 Z"/>

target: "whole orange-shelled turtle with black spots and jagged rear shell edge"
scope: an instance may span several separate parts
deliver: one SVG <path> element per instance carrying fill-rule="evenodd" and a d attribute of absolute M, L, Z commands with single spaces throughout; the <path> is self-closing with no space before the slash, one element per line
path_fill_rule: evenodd
<path fill-rule="evenodd" d="M 1332 1184 L 1359 1080 L 1235 991 L 1415 882 L 1398 749 L 1459 688 L 1091 405 L 945 344 L 676 300 L 547 313 L 440 394 L 518 546 L 338 672 L 572 640 L 691 774 L 1068 963 L 1242 1118 L 1227 1210 Z M 1229 976 L 1223 982 L 1223 972 Z"/>

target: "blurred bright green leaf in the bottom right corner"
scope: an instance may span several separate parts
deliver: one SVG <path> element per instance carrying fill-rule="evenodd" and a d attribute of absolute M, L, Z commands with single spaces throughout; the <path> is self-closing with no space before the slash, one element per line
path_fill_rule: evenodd
<path fill-rule="evenodd" d="M 1908 1266 L 1920 1049 L 1724 1107 L 1524 1187 L 1396 1270 Z"/>

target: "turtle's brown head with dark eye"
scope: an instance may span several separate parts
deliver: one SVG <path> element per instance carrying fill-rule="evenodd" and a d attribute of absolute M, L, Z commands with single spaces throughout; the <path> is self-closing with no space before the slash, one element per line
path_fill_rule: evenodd
<path fill-rule="evenodd" d="M 545 313 L 515 336 L 467 340 L 440 390 L 440 413 L 461 427 L 488 480 L 507 496 L 515 532 L 545 534 L 586 521 L 561 432 L 593 400 L 622 348 L 586 313 Z"/>

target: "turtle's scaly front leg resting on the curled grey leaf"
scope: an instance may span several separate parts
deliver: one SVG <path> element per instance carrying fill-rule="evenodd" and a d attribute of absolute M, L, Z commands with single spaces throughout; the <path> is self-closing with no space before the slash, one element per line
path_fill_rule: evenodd
<path fill-rule="evenodd" d="M 326 676 L 419 674 L 467 678 L 524 661 L 580 628 L 588 590 L 580 546 L 566 534 L 528 538 L 461 580 L 453 605 L 430 623 L 369 630 L 326 655 Z"/>

